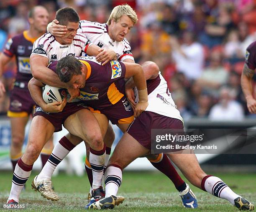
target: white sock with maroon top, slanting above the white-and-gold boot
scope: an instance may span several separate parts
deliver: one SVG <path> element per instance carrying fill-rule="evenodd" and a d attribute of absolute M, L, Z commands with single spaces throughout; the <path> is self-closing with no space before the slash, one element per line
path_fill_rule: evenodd
<path fill-rule="evenodd" d="M 38 174 L 37 180 L 51 180 L 56 166 L 67 156 L 75 146 L 64 136 L 54 147 L 51 156 Z"/>

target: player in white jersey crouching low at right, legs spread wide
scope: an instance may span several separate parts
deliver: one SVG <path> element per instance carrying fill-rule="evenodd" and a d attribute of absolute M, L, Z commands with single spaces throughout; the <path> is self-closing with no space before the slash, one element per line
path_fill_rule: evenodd
<path fill-rule="evenodd" d="M 115 147 L 104 175 L 105 198 L 92 203 L 89 209 L 113 209 L 115 207 L 115 196 L 122 183 L 123 169 L 136 158 L 147 153 L 150 154 L 151 152 L 151 129 L 183 130 L 182 117 L 176 109 L 164 77 L 162 77 L 160 72 L 154 72 L 152 70 L 145 72 L 144 69 L 144 74 L 147 79 L 148 107 L 133 121 Z M 132 80 L 129 80 L 126 83 L 126 89 L 131 90 L 133 87 L 135 87 L 134 83 Z M 172 155 L 171 153 L 168 154 Z M 228 200 L 231 204 L 238 207 L 238 209 L 254 209 L 252 203 L 234 193 L 227 184 L 216 176 L 205 174 L 199 188 L 215 197 Z M 194 196 L 190 189 L 188 193 Z M 186 195 L 184 195 L 185 199 L 188 196 Z M 193 206 L 194 203 L 188 201 L 187 204 Z"/>

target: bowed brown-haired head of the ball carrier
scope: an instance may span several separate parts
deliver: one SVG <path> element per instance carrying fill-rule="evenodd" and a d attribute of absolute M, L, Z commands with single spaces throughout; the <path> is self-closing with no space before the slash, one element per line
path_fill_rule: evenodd
<path fill-rule="evenodd" d="M 82 63 L 73 56 L 61 58 L 56 66 L 56 72 L 61 82 L 69 82 L 74 75 L 82 74 Z"/>

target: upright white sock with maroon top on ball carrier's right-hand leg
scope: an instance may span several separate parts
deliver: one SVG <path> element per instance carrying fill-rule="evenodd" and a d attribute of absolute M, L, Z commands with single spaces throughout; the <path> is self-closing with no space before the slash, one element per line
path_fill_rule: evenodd
<path fill-rule="evenodd" d="M 92 189 L 97 189 L 102 186 L 102 176 L 106 157 L 105 149 L 105 146 L 101 151 L 95 151 L 90 148 L 89 162 L 92 168 Z"/>

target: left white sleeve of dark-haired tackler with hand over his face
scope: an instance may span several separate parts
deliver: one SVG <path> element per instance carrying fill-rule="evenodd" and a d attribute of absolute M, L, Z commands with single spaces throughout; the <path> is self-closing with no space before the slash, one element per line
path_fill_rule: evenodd
<path fill-rule="evenodd" d="M 51 35 L 50 33 L 46 33 L 40 38 L 38 38 L 33 45 L 32 54 L 37 54 L 44 57 L 49 57 L 49 51 L 51 50 L 51 43 L 49 42 L 49 36 L 47 34 Z M 52 35 L 51 35 L 52 36 Z"/>

